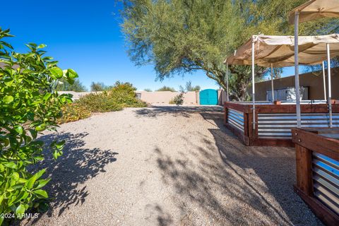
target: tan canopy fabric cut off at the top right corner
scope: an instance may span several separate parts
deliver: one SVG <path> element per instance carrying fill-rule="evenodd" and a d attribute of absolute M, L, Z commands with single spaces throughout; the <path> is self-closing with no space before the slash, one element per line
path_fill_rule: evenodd
<path fill-rule="evenodd" d="M 299 11 L 299 23 L 316 18 L 339 17 L 339 0 L 311 0 L 294 8 L 288 21 L 295 23 L 295 12 Z"/>

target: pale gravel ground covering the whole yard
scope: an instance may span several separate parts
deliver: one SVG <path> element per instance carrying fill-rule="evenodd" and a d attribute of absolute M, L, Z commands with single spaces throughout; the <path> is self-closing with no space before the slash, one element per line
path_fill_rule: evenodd
<path fill-rule="evenodd" d="M 220 107 L 129 108 L 61 125 L 52 210 L 21 225 L 321 225 L 292 148 L 246 147 Z"/>

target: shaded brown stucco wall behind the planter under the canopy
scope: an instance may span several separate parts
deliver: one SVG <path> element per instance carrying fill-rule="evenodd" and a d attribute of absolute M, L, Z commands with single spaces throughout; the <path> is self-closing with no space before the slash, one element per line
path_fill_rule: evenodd
<path fill-rule="evenodd" d="M 326 70 L 326 92 L 328 92 L 327 83 L 327 70 Z M 288 76 L 285 78 L 278 78 L 274 81 L 274 89 L 283 89 L 287 87 L 295 87 L 295 76 Z M 309 100 L 323 100 L 323 73 L 317 71 L 315 73 L 304 73 L 299 75 L 300 86 L 309 87 Z M 331 70 L 331 83 L 332 83 L 332 99 L 339 99 L 339 69 Z M 250 89 L 251 90 L 251 89 Z M 256 100 L 266 100 L 266 91 L 272 90 L 270 81 L 263 81 L 256 83 Z"/>

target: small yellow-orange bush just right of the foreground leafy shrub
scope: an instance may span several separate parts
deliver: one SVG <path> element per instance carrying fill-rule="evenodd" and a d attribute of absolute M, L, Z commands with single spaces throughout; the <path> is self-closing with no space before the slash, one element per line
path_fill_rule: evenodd
<path fill-rule="evenodd" d="M 78 121 L 90 117 L 90 109 L 71 103 L 61 108 L 62 117 L 57 120 L 58 124 L 63 124 L 70 121 Z"/>

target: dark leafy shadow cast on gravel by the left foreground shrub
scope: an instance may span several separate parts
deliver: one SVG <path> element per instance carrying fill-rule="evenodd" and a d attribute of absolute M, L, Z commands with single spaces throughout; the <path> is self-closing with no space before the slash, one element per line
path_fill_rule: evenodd
<path fill-rule="evenodd" d="M 44 188 L 52 198 L 51 207 L 47 214 L 52 215 L 52 210 L 60 216 L 64 210 L 85 202 L 88 191 L 82 184 L 97 174 L 105 172 L 105 166 L 115 162 L 118 153 L 99 148 L 83 148 L 83 138 L 88 133 L 53 133 L 40 137 L 49 145 L 54 140 L 66 141 L 64 154 L 57 160 L 52 159 L 50 150 L 44 150 L 45 160 L 37 165 L 36 170 L 47 168 L 51 181 Z M 59 212 L 55 212 L 59 210 Z M 39 218 L 37 218 L 39 220 Z M 34 222 L 32 222 L 34 224 Z"/>

